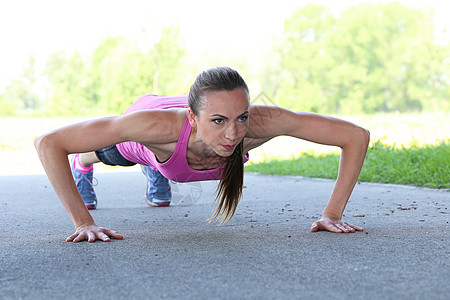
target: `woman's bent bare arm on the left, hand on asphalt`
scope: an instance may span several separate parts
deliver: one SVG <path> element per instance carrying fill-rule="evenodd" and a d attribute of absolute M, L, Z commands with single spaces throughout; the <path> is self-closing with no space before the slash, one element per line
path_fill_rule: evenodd
<path fill-rule="evenodd" d="M 115 231 L 95 225 L 74 183 L 68 154 L 95 151 L 128 140 L 161 142 L 161 135 L 156 132 L 161 129 L 161 120 L 167 118 L 167 114 L 159 112 L 134 113 L 74 124 L 36 138 L 35 147 L 44 170 L 78 232 L 67 240 L 122 238 Z M 152 128 L 156 130 L 149 130 Z"/>

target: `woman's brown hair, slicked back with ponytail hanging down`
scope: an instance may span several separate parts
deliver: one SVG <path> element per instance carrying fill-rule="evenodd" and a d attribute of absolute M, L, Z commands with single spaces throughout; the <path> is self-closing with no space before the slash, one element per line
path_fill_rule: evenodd
<path fill-rule="evenodd" d="M 236 88 L 242 88 L 249 98 L 247 84 L 237 71 L 229 67 L 215 67 L 205 70 L 197 76 L 191 86 L 188 96 L 189 107 L 198 116 L 199 111 L 205 106 L 206 97 L 203 97 L 205 93 L 232 91 Z M 220 182 L 217 186 L 216 199 L 214 200 L 214 203 L 217 202 L 217 208 L 209 221 L 219 217 L 221 223 L 225 223 L 233 217 L 242 196 L 243 183 L 244 154 L 243 141 L 241 141 L 223 167 Z"/>

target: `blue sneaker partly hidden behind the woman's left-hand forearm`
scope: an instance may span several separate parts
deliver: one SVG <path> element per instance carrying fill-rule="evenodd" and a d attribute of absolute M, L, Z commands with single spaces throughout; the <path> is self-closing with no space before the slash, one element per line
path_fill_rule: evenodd
<path fill-rule="evenodd" d="M 70 164 L 70 167 L 72 169 L 72 176 L 87 209 L 96 209 L 97 196 L 95 196 L 94 185 L 92 184 L 94 172 L 92 171 L 84 173 L 75 169 L 75 160 L 79 159 L 79 155 L 80 154 L 76 154 L 72 158 L 72 162 Z"/>

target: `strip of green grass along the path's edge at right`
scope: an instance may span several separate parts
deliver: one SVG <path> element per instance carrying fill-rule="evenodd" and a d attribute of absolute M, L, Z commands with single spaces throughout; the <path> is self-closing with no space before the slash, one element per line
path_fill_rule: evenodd
<path fill-rule="evenodd" d="M 266 159 L 251 163 L 246 172 L 274 175 L 301 175 L 336 179 L 339 155 L 304 153 L 293 159 Z M 418 146 L 387 145 L 382 140 L 367 151 L 360 181 L 409 184 L 428 188 L 450 188 L 450 142 Z"/>

